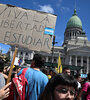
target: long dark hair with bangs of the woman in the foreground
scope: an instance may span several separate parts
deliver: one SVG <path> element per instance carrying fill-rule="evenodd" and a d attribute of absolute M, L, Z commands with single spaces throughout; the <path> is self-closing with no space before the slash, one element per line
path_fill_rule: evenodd
<path fill-rule="evenodd" d="M 77 88 L 77 82 L 73 76 L 66 73 L 56 74 L 49 80 L 38 100 L 53 100 L 51 98 L 53 98 L 55 87 L 58 85 L 70 86 L 74 89 Z"/>

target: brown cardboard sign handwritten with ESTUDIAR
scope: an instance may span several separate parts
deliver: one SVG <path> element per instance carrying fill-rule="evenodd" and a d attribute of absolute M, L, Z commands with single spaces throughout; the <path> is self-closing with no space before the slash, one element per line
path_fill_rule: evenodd
<path fill-rule="evenodd" d="M 56 17 L 49 13 L 0 4 L 0 43 L 50 52 L 53 34 L 45 34 L 45 29 L 55 29 Z"/>

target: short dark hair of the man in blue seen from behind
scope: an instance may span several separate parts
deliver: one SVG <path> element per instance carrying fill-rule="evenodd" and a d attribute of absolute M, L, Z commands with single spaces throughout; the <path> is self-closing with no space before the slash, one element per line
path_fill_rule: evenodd
<path fill-rule="evenodd" d="M 42 56 L 41 54 L 35 54 L 33 57 L 33 61 L 35 61 L 36 67 L 41 68 L 45 62 L 45 59 L 44 59 L 44 56 Z"/>

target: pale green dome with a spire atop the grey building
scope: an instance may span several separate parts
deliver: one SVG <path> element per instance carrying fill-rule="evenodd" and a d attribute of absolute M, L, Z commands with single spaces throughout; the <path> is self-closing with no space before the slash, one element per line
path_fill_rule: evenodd
<path fill-rule="evenodd" d="M 67 28 L 70 27 L 79 27 L 82 29 L 82 22 L 76 14 L 76 9 L 74 10 L 74 14 L 72 15 L 72 17 L 69 19 L 67 23 Z"/>

